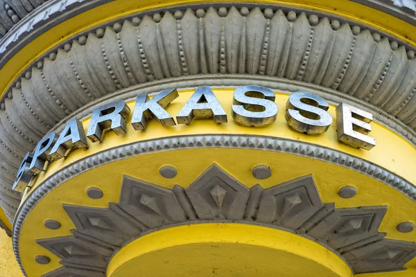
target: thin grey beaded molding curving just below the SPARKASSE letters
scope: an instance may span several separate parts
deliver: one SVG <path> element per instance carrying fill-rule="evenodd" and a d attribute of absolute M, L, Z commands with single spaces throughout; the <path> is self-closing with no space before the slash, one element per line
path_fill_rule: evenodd
<path fill-rule="evenodd" d="M 30 213 L 31 209 L 40 202 L 42 197 L 59 186 L 64 181 L 79 175 L 82 172 L 96 168 L 105 163 L 110 163 L 117 159 L 125 159 L 138 154 L 158 152 L 166 150 L 177 150 L 187 148 L 245 148 L 245 149 L 261 149 L 276 152 L 286 152 L 304 157 L 311 157 L 321 161 L 329 161 L 346 168 L 351 168 L 370 177 L 379 179 L 388 186 L 392 186 L 402 193 L 406 194 L 410 199 L 416 202 L 416 188 L 408 181 L 401 179 L 397 175 L 385 170 L 372 163 L 359 159 L 357 157 L 323 148 L 319 145 L 309 143 L 300 143 L 287 139 L 270 138 L 265 136 L 232 136 L 232 135 L 201 135 L 201 136 L 178 136 L 166 139 L 157 139 L 152 141 L 141 141 L 130 145 L 123 145 L 112 148 L 105 152 L 99 152 L 86 159 L 71 164 L 67 168 L 63 168 L 55 175 L 44 181 L 43 184 L 37 186 L 31 195 L 21 204 L 15 224 L 13 225 L 13 249 L 19 265 L 19 237 L 21 226 L 24 219 Z M 21 267 L 24 271 L 23 267 Z M 58 275 L 59 276 L 59 275 Z"/>

